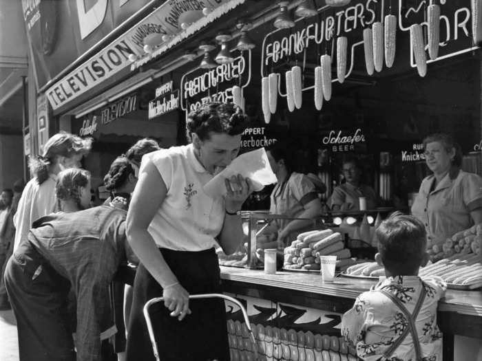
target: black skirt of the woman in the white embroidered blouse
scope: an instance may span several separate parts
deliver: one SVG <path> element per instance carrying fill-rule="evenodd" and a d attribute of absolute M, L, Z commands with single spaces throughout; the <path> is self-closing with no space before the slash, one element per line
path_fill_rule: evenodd
<path fill-rule="evenodd" d="M 221 293 L 214 249 L 184 252 L 161 249 L 167 265 L 189 294 Z M 143 265 L 134 280 L 134 299 L 127 336 L 127 361 L 155 360 L 143 316 L 145 303 L 163 289 Z M 229 361 L 226 309 L 219 298 L 189 300 L 191 314 L 182 321 L 169 316 L 164 303 L 151 306 L 151 322 L 161 361 Z"/>

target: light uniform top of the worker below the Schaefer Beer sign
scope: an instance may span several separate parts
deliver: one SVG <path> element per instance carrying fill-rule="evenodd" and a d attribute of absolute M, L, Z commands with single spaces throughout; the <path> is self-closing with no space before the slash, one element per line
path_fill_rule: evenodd
<path fill-rule="evenodd" d="M 359 197 L 366 198 L 366 208 L 373 209 L 377 206 L 377 195 L 375 190 L 366 184 L 361 184 L 359 187 L 355 187 L 352 184 L 344 183 L 333 189 L 333 194 L 328 199 L 328 206 L 342 206 L 344 203 L 350 203 L 353 205 L 350 210 L 359 210 Z"/>

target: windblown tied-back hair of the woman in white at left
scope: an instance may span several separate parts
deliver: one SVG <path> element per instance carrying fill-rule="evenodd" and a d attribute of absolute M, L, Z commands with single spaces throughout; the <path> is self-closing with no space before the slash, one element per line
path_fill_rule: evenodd
<path fill-rule="evenodd" d="M 77 154 L 87 154 L 92 147 L 92 138 L 81 138 L 77 135 L 61 131 L 52 135 L 43 146 L 43 153 L 37 157 L 30 157 L 30 171 L 42 184 L 49 177 L 50 166 L 56 164 L 56 158 L 72 157 Z"/>

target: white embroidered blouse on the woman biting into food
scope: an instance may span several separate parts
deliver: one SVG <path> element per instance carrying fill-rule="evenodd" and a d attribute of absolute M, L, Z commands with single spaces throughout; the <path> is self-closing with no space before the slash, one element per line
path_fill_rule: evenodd
<path fill-rule="evenodd" d="M 161 248 L 200 251 L 213 248 L 224 223 L 224 198 L 211 198 L 202 187 L 213 178 L 196 159 L 193 146 L 174 146 L 143 157 L 156 166 L 167 195 L 148 231 Z"/>

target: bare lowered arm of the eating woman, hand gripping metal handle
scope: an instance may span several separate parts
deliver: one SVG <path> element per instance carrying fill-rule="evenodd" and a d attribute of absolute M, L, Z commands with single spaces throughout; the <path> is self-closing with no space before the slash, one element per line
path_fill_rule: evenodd
<path fill-rule="evenodd" d="M 139 179 L 127 212 L 127 240 L 140 263 L 163 287 L 165 306 L 173 311 L 171 316 L 184 318 L 189 311 L 189 294 L 159 252 L 154 239 L 147 231 L 154 215 L 163 203 L 167 187 L 156 166 L 148 162 L 139 173 Z"/>

